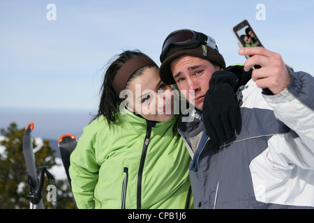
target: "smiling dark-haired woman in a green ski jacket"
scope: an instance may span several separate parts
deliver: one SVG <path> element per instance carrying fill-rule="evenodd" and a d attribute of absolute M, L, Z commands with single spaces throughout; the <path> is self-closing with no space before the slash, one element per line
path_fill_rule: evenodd
<path fill-rule="evenodd" d="M 192 208 L 172 89 L 138 51 L 110 64 L 99 111 L 70 157 L 77 208 Z"/>

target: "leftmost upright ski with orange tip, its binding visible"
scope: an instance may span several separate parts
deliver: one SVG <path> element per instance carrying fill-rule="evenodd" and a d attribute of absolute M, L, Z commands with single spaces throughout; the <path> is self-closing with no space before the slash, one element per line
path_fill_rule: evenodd
<path fill-rule="evenodd" d="M 31 132 L 33 131 L 33 123 L 29 123 L 23 135 L 23 153 L 27 164 L 27 174 L 29 178 L 29 194 L 27 200 L 30 201 L 31 209 L 43 209 L 43 199 L 37 193 L 34 193 L 34 188 L 38 185 L 37 170 L 35 164 L 35 155 L 33 153 L 33 143 L 31 140 Z M 41 191 L 40 191 L 41 192 Z"/>

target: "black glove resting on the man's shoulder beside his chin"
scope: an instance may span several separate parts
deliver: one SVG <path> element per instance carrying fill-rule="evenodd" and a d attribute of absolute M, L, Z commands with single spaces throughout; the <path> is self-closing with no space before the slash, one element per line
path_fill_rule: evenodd
<path fill-rule="evenodd" d="M 227 141 L 235 137 L 234 130 L 241 127 L 241 114 L 237 97 L 238 78 L 227 70 L 213 73 L 209 90 L 205 94 L 202 116 L 207 135 L 211 139 Z"/>

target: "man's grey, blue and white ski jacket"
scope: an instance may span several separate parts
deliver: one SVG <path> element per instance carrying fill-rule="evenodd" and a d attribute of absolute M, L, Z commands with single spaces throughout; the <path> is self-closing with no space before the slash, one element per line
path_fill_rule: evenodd
<path fill-rule="evenodd" d="M 291 82 L 277 95 L 251 79 L 238 95 L 236 139 L 202 148 L 190 171 L 195 208 L 314 207 L 314 77 L 288 70 Z M 202 120 L 180 119 L 178 129 L 193 157 Z"/>

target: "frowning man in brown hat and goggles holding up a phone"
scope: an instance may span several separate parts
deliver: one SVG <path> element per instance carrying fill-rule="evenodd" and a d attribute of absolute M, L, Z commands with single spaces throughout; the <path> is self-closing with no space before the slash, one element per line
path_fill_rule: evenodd
<path fill-rule="evenodd" d="M 194 206 L 313 208 L 314 78 L 262 47 L 239 54 L 244 67 L 225 68 L 215 40 L 188 29 L 163 44 L 161 79 L 194 93 L 193 121 L 178 123 Z"/>

